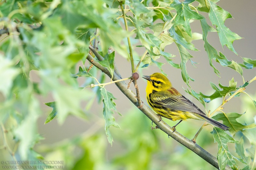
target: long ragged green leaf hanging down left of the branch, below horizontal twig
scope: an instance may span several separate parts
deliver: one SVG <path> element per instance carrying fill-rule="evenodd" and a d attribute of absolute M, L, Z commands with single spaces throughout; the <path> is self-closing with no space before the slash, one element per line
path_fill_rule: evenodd
<path fill-rule="evenodd" d="M 112 145 L 113 137 L 110 134 L 109 127 L 114 126 L 116 128 L 120 128 L 120 126 L 116 123 L 115 118 L 113 116 L 114 111 L 116 110 L 116 103 L 114 99 L 116 99 L 112 93 L 108 92 L 105 88 L 100 88 L 100 94 L 103 97 L 103 117 L 105 119 L 105 131 L 108 137 L 108 142 Z"/>

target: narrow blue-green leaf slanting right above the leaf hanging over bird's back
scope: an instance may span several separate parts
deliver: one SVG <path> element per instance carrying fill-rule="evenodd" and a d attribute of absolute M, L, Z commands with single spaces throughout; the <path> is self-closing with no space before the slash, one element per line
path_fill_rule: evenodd
<path fill-rule="evenodd" d="M 179 43 L 180 45 L 182 45 L 183 47 L 190 49 L 190 50 L 194 50 L 194 51 L 198 51 L 198 49 L 195 48 L 195 45 L 187 42 L 185 38 L 183 38 L 182 36 L 180 36 L 178 33 L 175 32 L 175 27 L 173 26 L 171 29 L 169 29 L 170 35 L 173 39 L 176 40 L 177 43 Z"/>

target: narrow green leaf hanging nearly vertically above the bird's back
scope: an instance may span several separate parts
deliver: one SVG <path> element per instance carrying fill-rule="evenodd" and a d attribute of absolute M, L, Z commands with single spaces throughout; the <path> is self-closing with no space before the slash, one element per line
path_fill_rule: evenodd
<path fill-rule="evenodd" d="M 177 47 L 179 49 L 180 58 L 181 58 L 181 63 L 180 63 L 181 76 L 183 78 L 183 81 L 186 82 L 187 85 L 190 87 L 189 80 L 192 80 L 192 81 L 195 81 L 195 80 L 188 75 L 188 72 L 186 70 L 186 63 L 193 56 L 190 55 L 189 52 L 187 51 L 187 49 L 184 48 L 182 45 L 180 45 L 178 43 L 176 43 L 176 45 L 177 45 Z"/>

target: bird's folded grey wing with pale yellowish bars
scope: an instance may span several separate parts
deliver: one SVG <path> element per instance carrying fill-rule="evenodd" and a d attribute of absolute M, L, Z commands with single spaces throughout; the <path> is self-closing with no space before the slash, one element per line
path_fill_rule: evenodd
<path fill-rule="evenodd" d="M 154 103 L 173 110 L 205 115 L 205 113 L 202 110 L 200 110 L 194 103 L 192 103 L 184 96 L 174 96 L 171 98 L 157 98 L 154 100 Z"/>

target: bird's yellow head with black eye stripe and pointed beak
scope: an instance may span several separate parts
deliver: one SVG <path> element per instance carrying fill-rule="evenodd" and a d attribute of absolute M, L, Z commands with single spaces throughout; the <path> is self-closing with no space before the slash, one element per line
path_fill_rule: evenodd
<path fill-rule="evenodd" d="M 152 91 L 163 91 L 172 87 L 172 83 L 162 73 L 154 73 L 151 76 L 142 76 L 148 80 L 147 88 Z"/>

